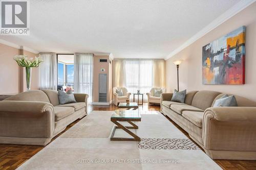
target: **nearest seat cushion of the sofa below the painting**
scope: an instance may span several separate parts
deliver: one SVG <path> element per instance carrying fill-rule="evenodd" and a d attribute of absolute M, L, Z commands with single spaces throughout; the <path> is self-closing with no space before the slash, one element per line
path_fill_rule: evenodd
<path fill-rule="evenodd" d="M 183 111 L 182 116 L 199 128 L 202 128 L 204 112 Z"/>

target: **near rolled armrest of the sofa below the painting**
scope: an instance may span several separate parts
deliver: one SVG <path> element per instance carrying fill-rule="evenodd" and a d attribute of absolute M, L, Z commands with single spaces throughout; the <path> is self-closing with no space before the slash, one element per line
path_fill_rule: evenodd
<path fill-rule="evenodd" d="M 216 151 L 256 151 L 256 107 L 216 107 L 204 112 L 204 148 Z"/>

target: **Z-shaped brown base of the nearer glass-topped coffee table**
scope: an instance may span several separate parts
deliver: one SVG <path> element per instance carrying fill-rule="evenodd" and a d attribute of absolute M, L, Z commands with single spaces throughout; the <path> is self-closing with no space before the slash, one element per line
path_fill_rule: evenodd
<path fill-rule="evenodd" d="M 123 126 L 121 125 L 120 123 L 118 123 L 118 121 L 121 121 L 121 122 L 128 122 L 129 124 L 131 124 L 132 126 Z M 136 119 L 135 121 L 139 121 L 140 122 L 140 119 Z M 114 127 L 114 130 L 112 132 L 112 135 L 111 135 L 111 138 L 110 140 L 112 141 L 140 141 L 140 137 L 137 136 L 136 134 L 134 134 L 133 132 L 131 132 L 129 129 L 138 129 L 138 126 L 135 125 L 134 123 L 132 123 L 131 121 L 129 120 L 125 120 L 125 118 L 122 120 L 122 119 L 119 119 L 119 120 L 116 120 L 115 118 L 111 118 L 111 122 L 113 122 L 114 124 L 116 124 L 117 126 Z M 116 129 L 122 129 L 124 130 L 126 133 L 128 133 L 129 135 L 133 136 L 133 138 L 125 138 L 125 137 L 114 137 L 114 134 L 115 134 L 115 131 Z"/>

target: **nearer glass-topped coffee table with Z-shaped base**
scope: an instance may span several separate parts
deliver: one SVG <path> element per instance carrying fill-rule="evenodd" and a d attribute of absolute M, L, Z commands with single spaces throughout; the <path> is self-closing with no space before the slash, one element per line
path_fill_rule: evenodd
<path fill-rule="evenodd" d="M 115 113 L 111 115 L 111 122 L 116 124 L 114 127 L 110 140 L 118 141 L 140 141 L 140 137 L 131 132 L 129 129 L 138 129 L 139 127 L 133 122 L 141 122 L 141 116 L 139 110 L 115 110 Z M 127 122 L 132 126 L 123 126 L 119 122 Z M 114 137 L 116 129 L 122 129 L 126 133 L 133 136 L 133 138 Z"/>

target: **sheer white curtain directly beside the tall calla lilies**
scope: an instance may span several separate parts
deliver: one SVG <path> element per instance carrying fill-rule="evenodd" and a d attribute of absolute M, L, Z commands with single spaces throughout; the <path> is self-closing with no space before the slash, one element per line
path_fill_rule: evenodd
<path fill-rule="evenodd" d="M 57 90 L 57 55 L 55 53 L 39 53 L 44 62 L 40 63 L 40 89 Z"/>

